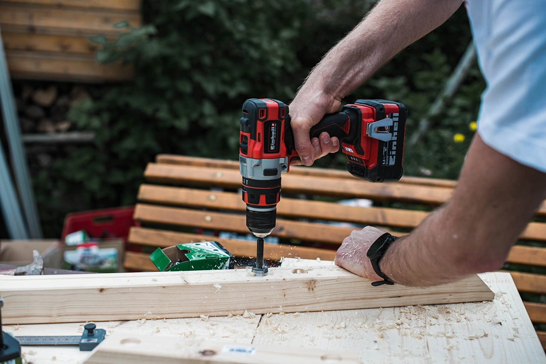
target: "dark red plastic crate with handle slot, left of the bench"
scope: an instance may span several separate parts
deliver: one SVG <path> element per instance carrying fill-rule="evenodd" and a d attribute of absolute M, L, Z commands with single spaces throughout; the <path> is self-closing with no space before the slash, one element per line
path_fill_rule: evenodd
<path fill-rule="evenodd" d="M 133 212 L 134 206 L 127 206 L 69 213 L 64 218 L 61 241 L 79 230 L 87 231 L 94 238 L 122 238 L 127 241 L 129 228 L 138 225 L 133 220 Z"/>

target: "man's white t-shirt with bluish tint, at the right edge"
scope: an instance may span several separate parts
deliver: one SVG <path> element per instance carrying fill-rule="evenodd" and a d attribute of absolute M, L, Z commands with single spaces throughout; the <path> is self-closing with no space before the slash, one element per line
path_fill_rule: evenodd
<path fill-rule="evenodd" d="M 546 0 L 468 0 L 485 144 L 546 172 Z"/>

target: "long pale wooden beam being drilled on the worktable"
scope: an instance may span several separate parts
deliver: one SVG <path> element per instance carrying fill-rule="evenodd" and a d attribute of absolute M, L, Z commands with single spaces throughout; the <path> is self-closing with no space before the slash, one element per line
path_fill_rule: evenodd
<path fill-rule="evenodd" d="M 477 275 L 430 288 L 373 287 L 339 267 L 0 277 L 6 325 L 331 311 L 489 301 Z"/>

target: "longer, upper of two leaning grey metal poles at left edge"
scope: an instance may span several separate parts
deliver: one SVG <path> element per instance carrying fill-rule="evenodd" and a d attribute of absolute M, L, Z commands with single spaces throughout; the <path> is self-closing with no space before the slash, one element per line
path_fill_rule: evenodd
<path fill-rule="evenodd" d="M 5 60 L 4 45 L 0 35 L 0 102 L 2 103 L 2 115 L 4 117 L 5 133 L 8 139 L 11 164 L 13 166 L 17 189 L 21 198 L 23 211 L 27 220 L 28 231 L 34 239 L 42 237 L 40 220 L 34 194 L 29 179 L 28 166 L 25 158 L 25 150 L 21 141 L 21 126 L 15 107 L 13 89 L 11 89 L 8 65 Z"/>

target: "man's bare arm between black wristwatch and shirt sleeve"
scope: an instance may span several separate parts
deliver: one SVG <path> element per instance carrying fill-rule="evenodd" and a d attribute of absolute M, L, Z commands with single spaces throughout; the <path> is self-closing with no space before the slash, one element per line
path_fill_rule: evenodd
<path fill-rule="evenodd" d="M 477 135 L 453 198 L 397 240 L 379 267 L 394 282 L 412 286 L 497 270 L 545 196 L 546 174 Z"/>

